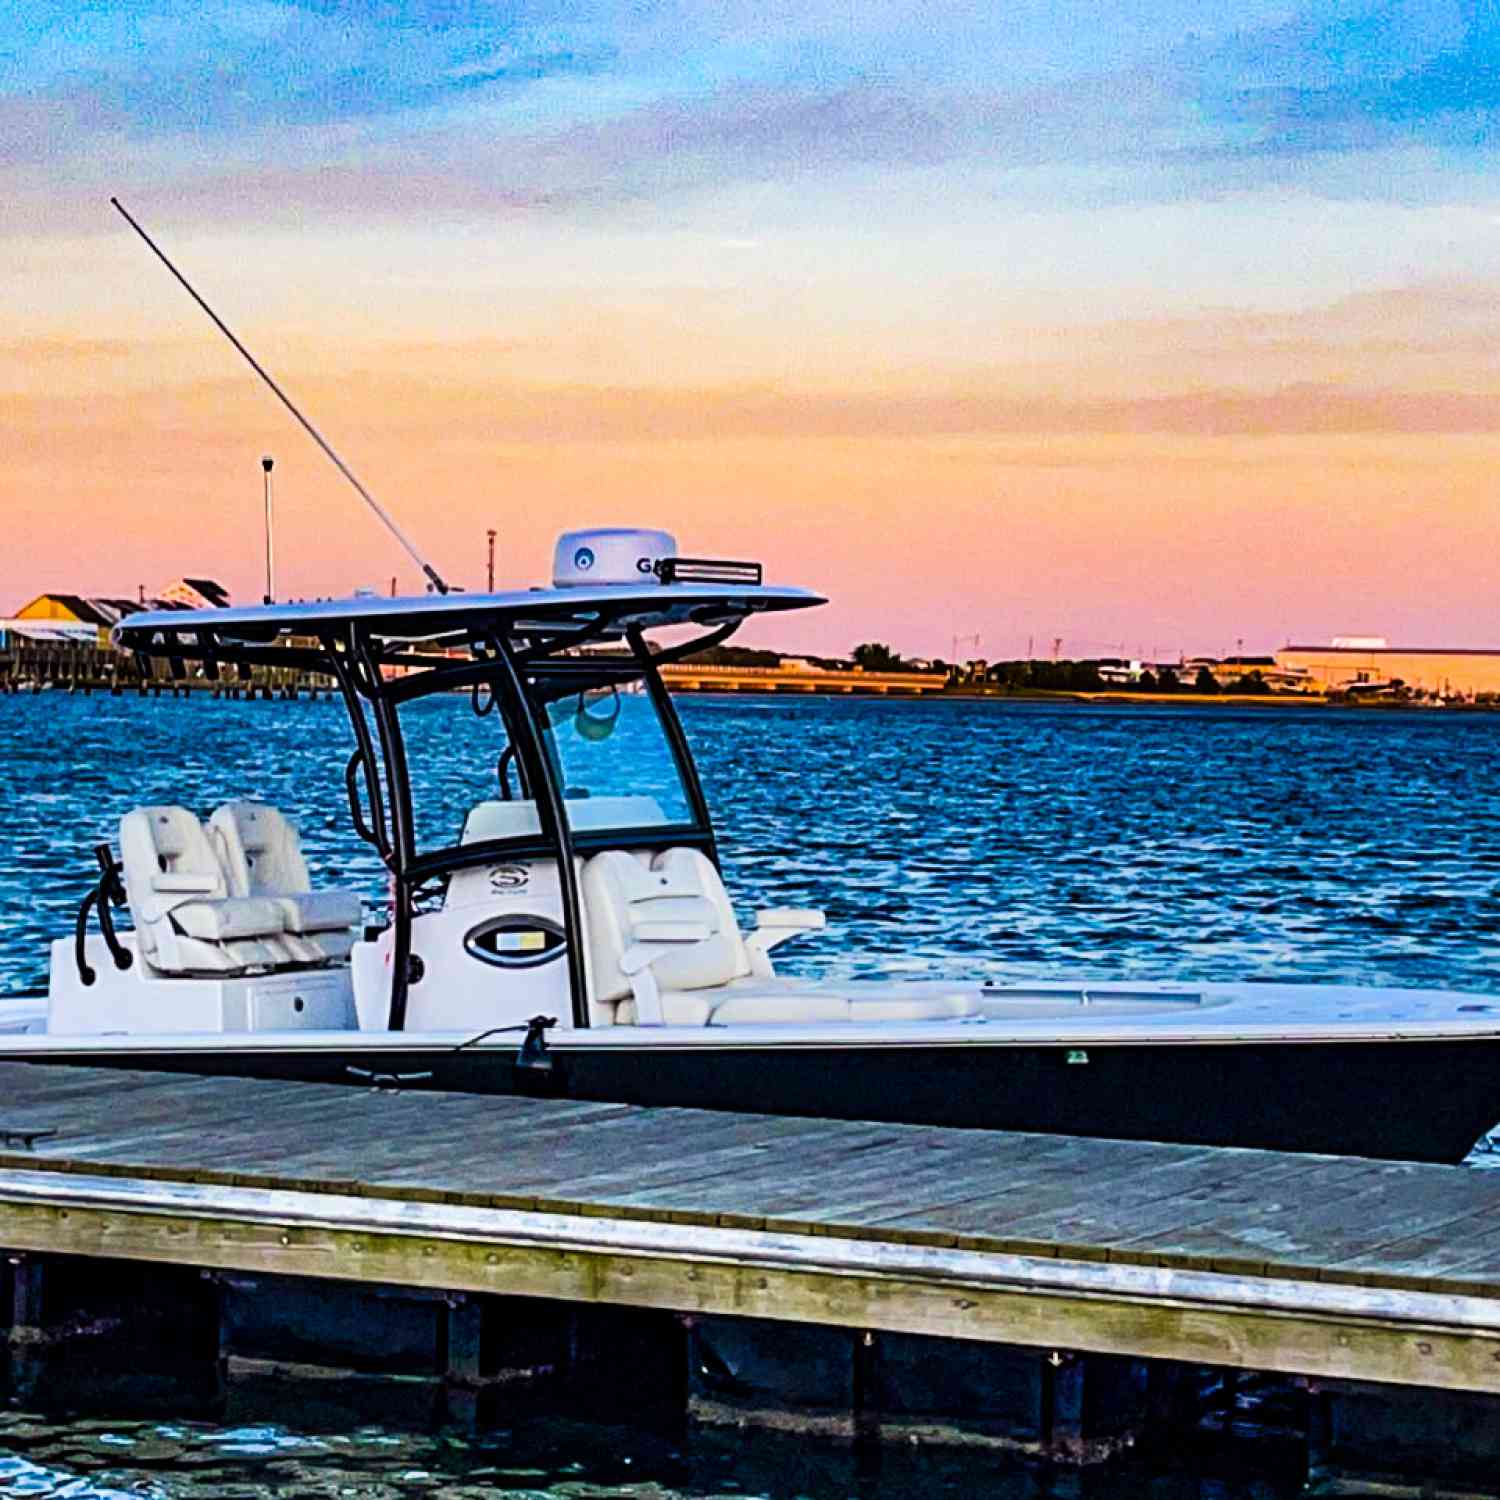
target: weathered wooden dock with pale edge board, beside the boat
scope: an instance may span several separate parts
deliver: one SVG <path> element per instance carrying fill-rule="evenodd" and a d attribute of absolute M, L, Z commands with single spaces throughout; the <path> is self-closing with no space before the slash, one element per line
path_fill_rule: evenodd
<path fill-rule="evenodd" d="M 0 1136 L 10 1252 L 1500 1392 L 1500 1173 L 22 1064 Z"/>

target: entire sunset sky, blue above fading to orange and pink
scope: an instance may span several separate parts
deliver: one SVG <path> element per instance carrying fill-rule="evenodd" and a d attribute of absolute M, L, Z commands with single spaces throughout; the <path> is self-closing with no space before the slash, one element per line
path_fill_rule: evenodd
<path fill-rule="evenodd" d="M 1500 646 L 1500 0 L 12 0 L 0 612 L 652 525 L 747 644 Z M 974 638 L 978 638 L 978 648 Z"/>

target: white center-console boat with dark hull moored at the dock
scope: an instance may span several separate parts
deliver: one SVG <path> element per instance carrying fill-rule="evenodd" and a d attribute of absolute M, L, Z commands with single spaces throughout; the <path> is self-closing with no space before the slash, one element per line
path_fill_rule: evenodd
<path fill-rule="evenodd" d="M 96 850 L 0 1058 L 1449 1162 L 1500 1116 L 1500 998 L 778 972 L 825 915 L 735 910 L 662 668 L 822 603 L 610 528 L 534 590 L 128 616 L 174 678 L 338 684 L 388 909 L 314 884 L 297 808 L 183 786 Z"/>

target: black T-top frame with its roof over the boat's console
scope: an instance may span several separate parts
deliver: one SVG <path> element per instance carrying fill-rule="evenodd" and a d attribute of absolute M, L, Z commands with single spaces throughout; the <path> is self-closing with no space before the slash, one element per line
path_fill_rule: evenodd
<path fill-rule="evenodd" d="M 656 598 L 666 603 L 676 594 L 666 585 Z M 375 848 L 392 876 L 393 954 L 392 954 L 392 1030 L 406 1024 L 406 996 L 411 986 L 411 927 L 423 886 L 454 870 L 494 864 L 498 858 L 550 858 L 556 861 L 562 892 L 566 960 L 573 1024 L 586 1028 L 588 992 L 584 972 L 584 918 L 574 870 L 574 855 L 603 848 L 666 848 L 688 844 L 711 860 L 718 860 L 712 820 L 698 778 L 681 720 L 662 682 L 660 668 L 726 640 L 746 615 L 762 609 L 789 609 L 819 604 L 822 598 L 801 590 L 756 590 L 754 602 L 724 591 L 705 600 L 710 590 L 681 590 L 694 594 L 692 608 L 642 610 L 636 591 L 621 591 L 618 602 L 596 592 L 586 603 L 546 591 L 544 597 L 510 596 L 514 608 L 489 608 L 476 596 L 472 609 L 454 609 L 444 600 L 441 628 L 418 630 L 408 615 L 378 614 L 375 609 L 308 610 L 300 618 L 291 606 L 264 612 L 236 612 L 224 618 L 224 630 L 212 610 L 183 612 L 180 616 L 136 616 L 117 628 L 117 640 L 142 656 L 165 657 L 176 676 L 186 675 L 186 663 L 198 662 L 210 675 L 232 666 L 242 678 L 254 668 L 291 668 L 330 675 L 339 686 L 356 748 L 345 765 L 345 788 L 356 832 Z M 495 602 L 496 596 L 488 596 Z M 674 600 L 676 603 L 676 600 Z M 687 604 L 688 600 L 682 600 Z M 255 618 L 250 618 L 250 616 Z M 320 618 L 321 616 L 321 618 Z M 654 648 L 646 630 L 657 624 L 694 626 L 698 634 L 670 646 Z M 585 648 L 610 646 L 609 654 L 588 654 Z M 393 669 L 387 672 L 387 669 Z M 564 808 L 564 788 L 554 758 L 546 753 L 544 704 L 552 698 L 608 687 L 622 680 L 639 680 L 651 694 L 663 726 L 682 790 L 690 822 L 642 828 L 573 830 Z M 456 843 L 441 849 L 418 850 L 412 826 L 411 780 L 398 710 L 402 704 L 432 693 L 468 690 L 488 694 L 486 711 L 502 717 L 524 795 L 536 802 L 540 832 L 534 837 Z M 508 754 L 508 752 L 507 752 Z M 500 794 L 508 795 L 506 768 L 498 777 Z"/>

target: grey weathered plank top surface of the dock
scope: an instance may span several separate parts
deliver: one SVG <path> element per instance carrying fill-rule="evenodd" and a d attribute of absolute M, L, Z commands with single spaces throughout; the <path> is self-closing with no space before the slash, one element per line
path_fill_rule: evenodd
<path fill-rule="evenodd" d="M 495 1203 L 1500 1294 L 1500 1173 L 1143 1142 L 0 1065 L 0 1167 Z"/>

